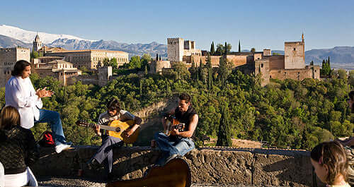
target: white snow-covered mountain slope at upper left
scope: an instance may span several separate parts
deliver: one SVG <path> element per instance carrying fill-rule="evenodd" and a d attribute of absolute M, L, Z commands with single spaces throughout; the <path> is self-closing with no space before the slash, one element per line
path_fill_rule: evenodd
<path fill-rule="evenodd" d="M 37 35 L 37 32 L 23 30 L 21 28 L 16 28 L 16 27 L 9 26 L 9 25 L 0 25 L 0 35 L 12 37 L 16 40 L 20 40 L 25 43 L 32 43 L 33 40 L 35 39 L 35 35 Z M 86 40 L 86 39 L 82 39 L 80 37 L 75 37 L 72 35 L 49 34 L 49 33 L 45 33 L 45 32 L 38 32 L 38 35 L 40 37 L 40 41 L 42 41 L 42 43 L 45 43 L 45 44 L 52 43 L 55 40 L 62 39 L 62 38 L 67 38 L 69 40 L 70 39 Z M 86 41 L 93 42 L 93 40 L 86 40 Z"/>

